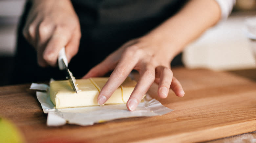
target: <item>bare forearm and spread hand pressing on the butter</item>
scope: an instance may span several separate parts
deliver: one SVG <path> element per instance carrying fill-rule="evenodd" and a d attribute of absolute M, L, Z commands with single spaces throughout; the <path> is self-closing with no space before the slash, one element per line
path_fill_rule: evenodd
<path fill-rule="evenodd" d="M 154 81 L 159 85 L 160 98 L 166 98 L 169 89 L 177 96 L 184 96 L 180 82 L 173 77 L 170 62 L 220 17 L 221 9 L 215 0 L 190 0 L 147 35 L 121 46 L 84 76 L 103 76 L 114 70 L 98 95 L 98 104 L 105 103 L 133 69 L 139 71 L 140 78 L 127 102 L 130 111 L 137 107 Z"/>

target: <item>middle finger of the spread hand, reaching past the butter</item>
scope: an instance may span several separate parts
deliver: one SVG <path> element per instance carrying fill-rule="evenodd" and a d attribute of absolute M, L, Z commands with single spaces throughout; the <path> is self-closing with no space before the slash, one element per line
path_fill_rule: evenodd
<path fill-rule="evenodd" d="M 130 111 L 134 111 L 136 109 L 149 87 L 153 84 L 154 80 L 155 67 L 153 65 L 148 65 L 146 68 L 141 69 L 140 79 L 126 103 L 126 106 Z"/>

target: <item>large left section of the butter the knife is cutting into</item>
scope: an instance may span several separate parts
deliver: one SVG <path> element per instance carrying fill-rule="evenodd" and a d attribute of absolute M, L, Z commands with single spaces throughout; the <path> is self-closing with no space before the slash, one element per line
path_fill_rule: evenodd
<path fill-rule="evenodd" d="M 56 108 L 98 105 L 99 91 L 89 79 L 77 79 L 76 84 L 81 90 L 77 94 L 68 80 L 50 83 L 50 97 Z"/>

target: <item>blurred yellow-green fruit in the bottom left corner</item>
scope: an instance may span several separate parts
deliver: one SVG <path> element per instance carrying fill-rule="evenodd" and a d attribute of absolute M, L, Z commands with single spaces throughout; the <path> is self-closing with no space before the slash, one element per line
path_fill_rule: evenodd
<path fill-rule="evenodd" d="M 24 143 L 18 129 L 7 119 L 0 117 L 0 143 Z"/>

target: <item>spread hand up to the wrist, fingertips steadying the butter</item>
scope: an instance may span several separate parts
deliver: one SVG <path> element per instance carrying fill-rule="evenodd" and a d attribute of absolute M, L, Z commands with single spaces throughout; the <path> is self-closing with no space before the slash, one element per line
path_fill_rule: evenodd
<path fill-rule="evenodd" d="M 139 71 L 140 78 L 127 102 L 130 111 L 135 110 L 154 82 L 159 85 L 160 98 L 166 98 L 170 88 L 177 96 L 184 96 L 170 67 L 172 47 L 165 41 L 150 36 L 131 40 L 92 68 L 83 78 L 103 76 L 114 70 L 98 95 L 98 104 L 104 104 L 133 69 Z"/>

